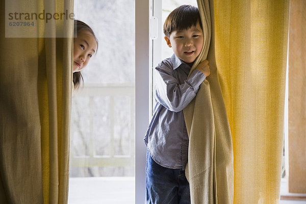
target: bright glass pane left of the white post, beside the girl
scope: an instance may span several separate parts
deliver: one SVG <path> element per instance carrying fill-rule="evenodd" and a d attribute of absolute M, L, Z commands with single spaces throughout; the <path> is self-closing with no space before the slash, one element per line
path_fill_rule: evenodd
<path fill-rule="evenodd" d="M 99 40 L 72 95 L 69 204 L 135 203 L 135 1 L 74 1 Z"/>

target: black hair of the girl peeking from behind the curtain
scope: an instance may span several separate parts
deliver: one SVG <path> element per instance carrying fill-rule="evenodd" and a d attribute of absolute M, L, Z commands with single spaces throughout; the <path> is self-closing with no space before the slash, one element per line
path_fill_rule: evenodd
<path fill-rule="evenodd" d="M 77 35 L 82 30 L 89 31 L 96 40 L 96 43 L 97 43 L 96 52 L 97 52 L 97 50 L 98 50 L 98 39 L 94 35 L 93 30 L 89 27 L 89 25 L 86 24 L 85 22 L 81 21 L 81 20 L 75 20 L 75 19 L 74 19 L 73 23 L 74 23 L 73 37 L 77 37 Z M 81 83 L 84 83 L 81 71 L 74 72 L 73 73 L 74 90 L 77 90 L 80 87 Z"/>

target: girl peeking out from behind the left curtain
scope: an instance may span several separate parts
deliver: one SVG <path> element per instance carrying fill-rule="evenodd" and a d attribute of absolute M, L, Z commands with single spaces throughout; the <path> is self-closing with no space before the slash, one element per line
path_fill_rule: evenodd
<path fill-rule="evenodd" d="M 78 89 L 83 77 L 81 70 L 98 49 L 98 40 L 92 29 L 85 22 L 74 20 L 73 39 L 73 85 Z"/>

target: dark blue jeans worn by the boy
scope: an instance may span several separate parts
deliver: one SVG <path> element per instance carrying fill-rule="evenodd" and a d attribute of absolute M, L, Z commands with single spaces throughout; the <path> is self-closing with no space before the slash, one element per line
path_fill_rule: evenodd
<path fill-rule="evenodd" d="M 147 151 L 146 203 L 188 204 L 189 183 L 183 169 L 170 169 L 157 164 Z"/>

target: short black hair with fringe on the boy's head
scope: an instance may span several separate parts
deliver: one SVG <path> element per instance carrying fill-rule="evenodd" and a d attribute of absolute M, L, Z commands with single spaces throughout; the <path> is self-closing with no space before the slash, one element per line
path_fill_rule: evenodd
<path fill-rule="evenodd" d="M 182 5 L 174 9 L 166 18 L 164 23 L 164 34 L 170 37 L 173 31 L 182 31 L 196 26 L 199 22 L 202 29 L 201 17 L 197 7 Z"/>

